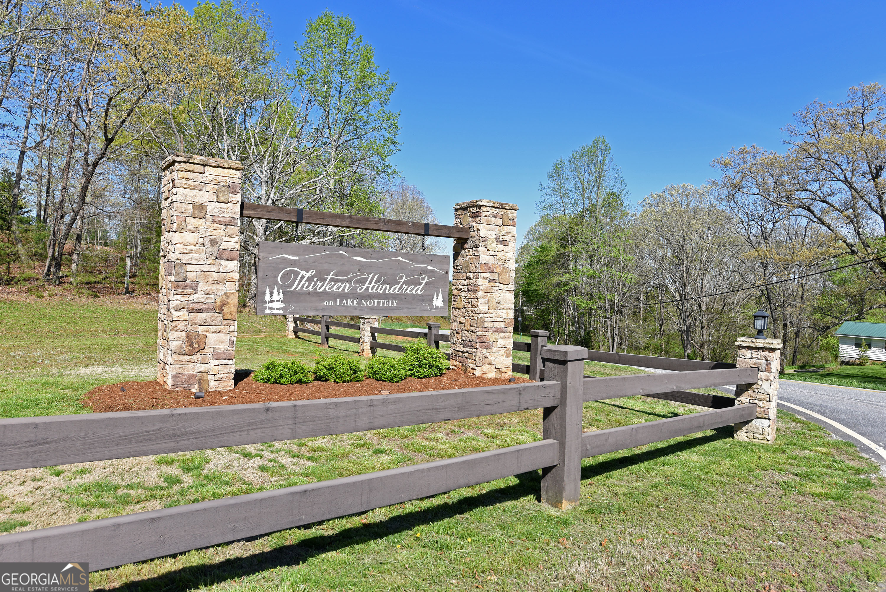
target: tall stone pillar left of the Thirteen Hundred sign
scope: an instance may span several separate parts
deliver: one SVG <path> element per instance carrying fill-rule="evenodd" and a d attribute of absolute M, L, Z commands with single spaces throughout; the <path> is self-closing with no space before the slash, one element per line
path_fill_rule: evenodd
<path fill-rule="evenodd" d="M 190 154 L 163 161 L 157 380 L 167 388 L 234 387 L 241 170 Z"/>

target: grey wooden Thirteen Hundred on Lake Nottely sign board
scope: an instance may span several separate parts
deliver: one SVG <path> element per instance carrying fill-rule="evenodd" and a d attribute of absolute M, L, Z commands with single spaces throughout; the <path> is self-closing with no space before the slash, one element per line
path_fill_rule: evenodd
<path fill-rule="evenodd" d="M 259 315 L 449 314 L 449 257 L 259 243 Z"/>

